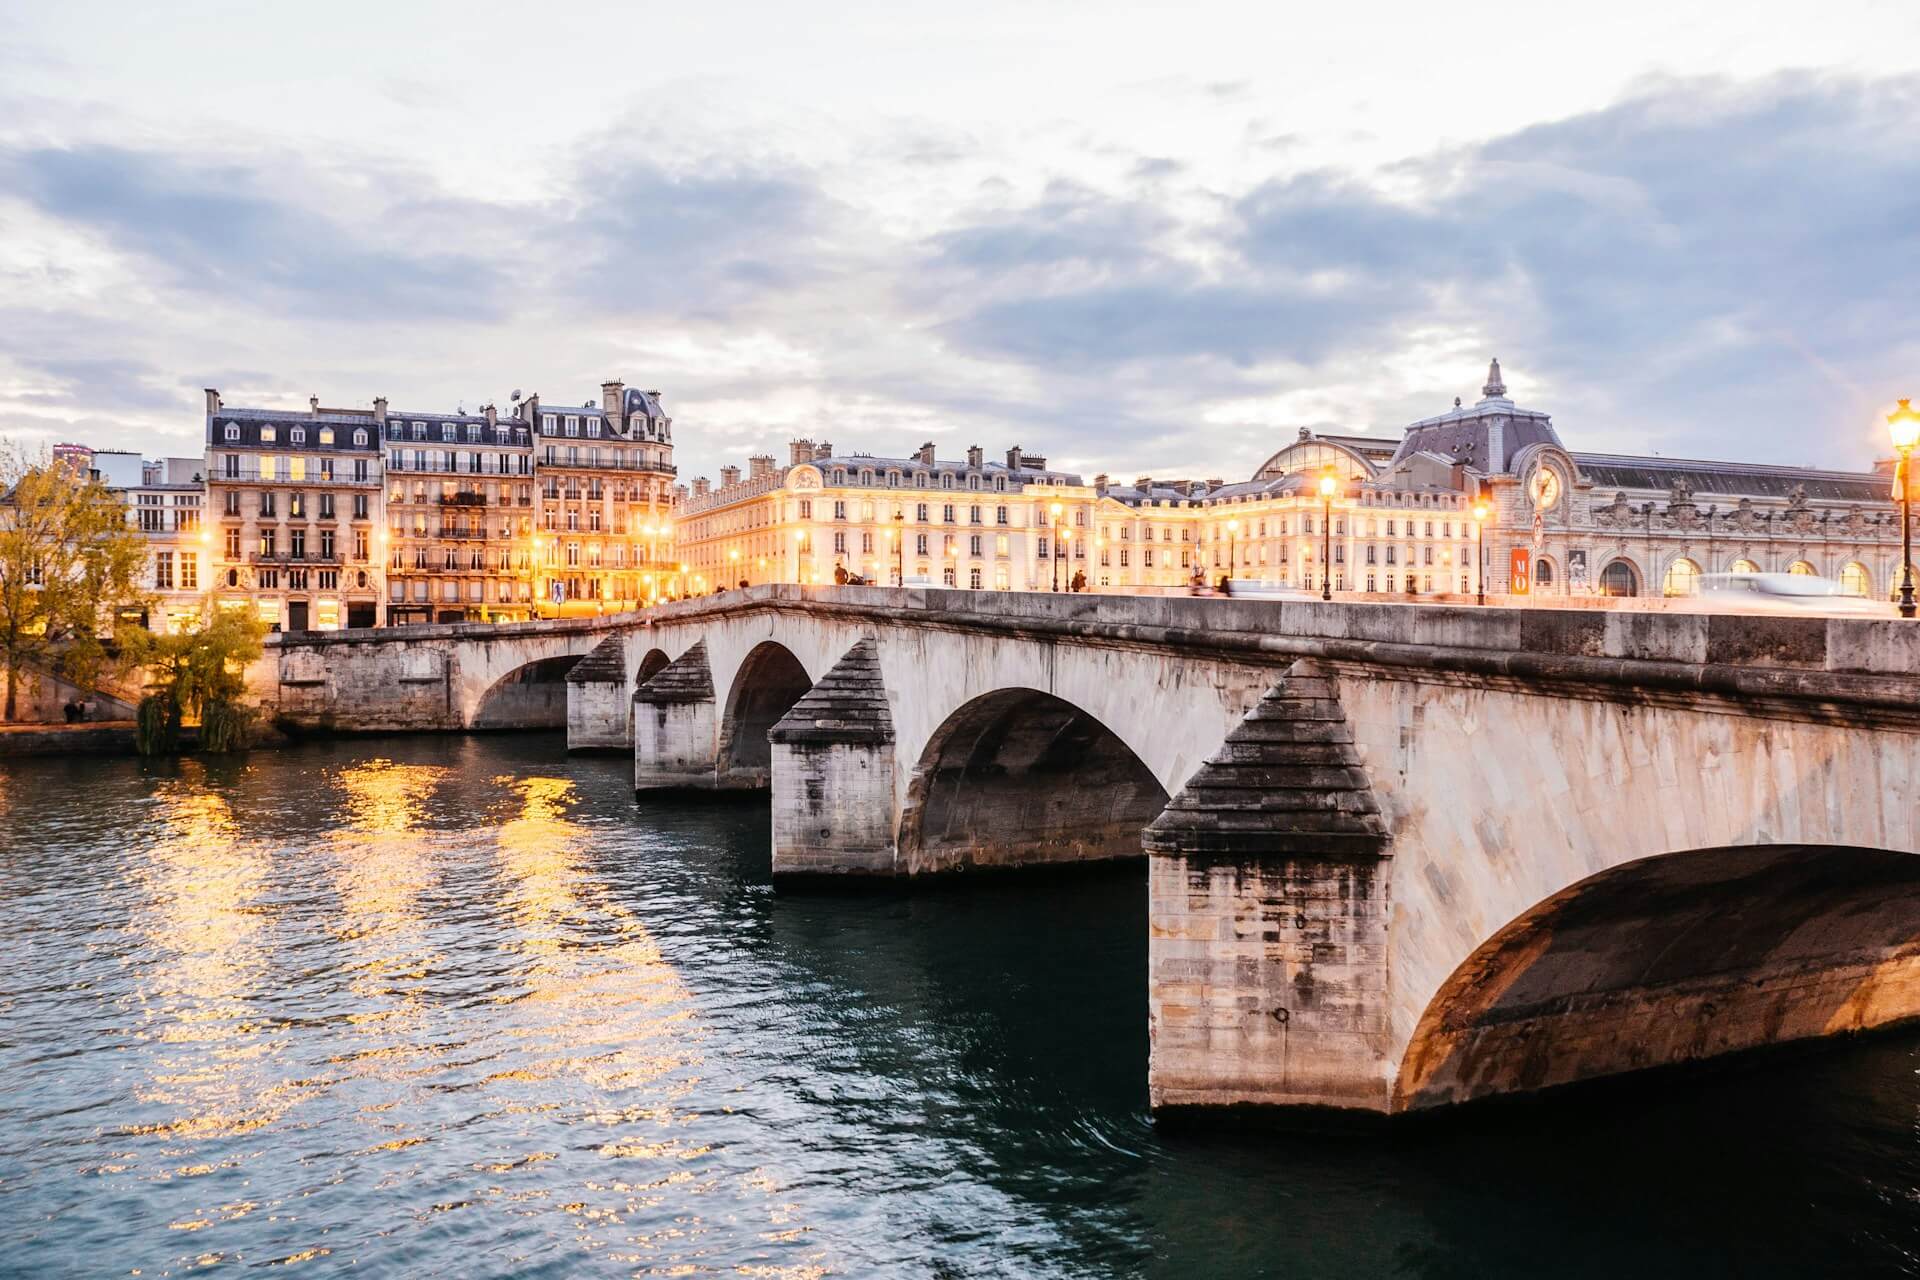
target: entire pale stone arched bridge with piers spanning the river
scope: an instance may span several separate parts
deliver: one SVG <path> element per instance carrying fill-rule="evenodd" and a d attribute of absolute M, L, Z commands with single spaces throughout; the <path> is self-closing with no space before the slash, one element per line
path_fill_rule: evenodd
<path fill-rule="evenodd" d="M 770 789 L 776 881 L 1144 858 L 1156 1109 L 1404 1113 L 1920 1015 L 1916 670 L 1897 620 L 774 585 L 252 679 Z"/>

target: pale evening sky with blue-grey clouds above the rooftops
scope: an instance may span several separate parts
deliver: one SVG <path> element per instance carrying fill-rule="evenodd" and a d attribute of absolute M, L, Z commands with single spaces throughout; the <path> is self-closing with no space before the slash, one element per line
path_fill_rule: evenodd
<path fill-rule="evenodd" d="M 0 0 L 0 436 L 659 388 L 1244 476 L 1498 355 L 1576 449 L 1920 397 L 1920 4 Z M 1738 17 L 1736 17 L 1738 15 Z"/>

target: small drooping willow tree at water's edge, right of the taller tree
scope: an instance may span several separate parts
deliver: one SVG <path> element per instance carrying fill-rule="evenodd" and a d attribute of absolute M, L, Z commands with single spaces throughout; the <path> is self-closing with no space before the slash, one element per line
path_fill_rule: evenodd
<path fill-rule="evenodd" d="M 180 727 L 194 720 L 202 750 L 242 747 L 253 722 L 253 708 L 244 700 L 246 666 L 263 652 L 265 635 L 267 624 L 244 608 L 213 608 L 200 626 L 175 635 L 129 633 L 127 658 L 148 676 L 140 750 L 148 756 L 173 750 Z"/>

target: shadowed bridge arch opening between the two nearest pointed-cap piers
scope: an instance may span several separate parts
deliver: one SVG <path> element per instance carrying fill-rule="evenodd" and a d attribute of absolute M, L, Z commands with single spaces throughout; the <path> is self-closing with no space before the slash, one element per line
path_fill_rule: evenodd
<path fill-rule="evenodd" d="M 1106 723 L 1016 687 L 933 731 L 908 779 L 899 856 L 910 871 L 1139 858 L 1167 791 Z"/>

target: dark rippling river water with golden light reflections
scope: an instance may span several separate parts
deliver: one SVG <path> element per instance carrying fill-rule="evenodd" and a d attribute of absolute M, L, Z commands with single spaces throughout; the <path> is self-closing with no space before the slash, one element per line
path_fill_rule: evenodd
<path fill-rule="evenodd" d="M 766 850 L 545 735 L 0 766 L 0 1274 L 1920 1274 L 1920 1036 L 1162 1132 L 1139 867 Z"/>

